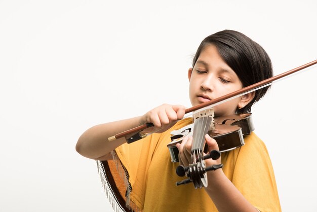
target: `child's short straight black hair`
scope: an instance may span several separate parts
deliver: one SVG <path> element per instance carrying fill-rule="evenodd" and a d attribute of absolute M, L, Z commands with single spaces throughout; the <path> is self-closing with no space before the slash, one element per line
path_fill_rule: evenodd
<path fill-rule="evenodd" d="M 192 60 L 194 67 L 201 52 L 210 45 L 215 45 L 222 59 L 234 70 L 247 87 L 273 76 L 272 63 L 265 50 L 245 34 L 234 30 L 223 30 L 205 38 L 198 47 Z M 255 97 L 236 113 L 251 112 L 252 105 L 260 100 L 269 86 L 255 91 Z"/>

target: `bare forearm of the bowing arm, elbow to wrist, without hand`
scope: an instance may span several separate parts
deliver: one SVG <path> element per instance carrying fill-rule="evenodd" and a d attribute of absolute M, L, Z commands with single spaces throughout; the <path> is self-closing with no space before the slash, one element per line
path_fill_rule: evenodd
<path fill-rule="evenodd" d="M 76 151 L 84 157 L 98 159 L 126 143 L 124 138 L 108 141 L 108 138 L 140 125 L 140 117 L 99 124 L 86 130 L 78 139 Z"/>

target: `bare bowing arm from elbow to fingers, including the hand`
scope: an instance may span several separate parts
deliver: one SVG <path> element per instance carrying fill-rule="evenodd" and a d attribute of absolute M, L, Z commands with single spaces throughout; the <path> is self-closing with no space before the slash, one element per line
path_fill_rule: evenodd
<path fill-rule="evenodd" d="M 147 129 L 151 132 L 164 132 L 182 119 L 184 114 L 185 107 L 182 105 L 162 104 L 143 116 L 94 126 L 84 132 L 78 139 L 76 151 L 87 158 L 111 159 L 109 153 L 124 144 L 126 140 L 120 138 L 109 142 L 109 137 L 145 123 L 153 123 L 154 127 Z"/>

